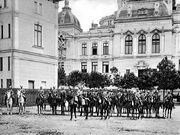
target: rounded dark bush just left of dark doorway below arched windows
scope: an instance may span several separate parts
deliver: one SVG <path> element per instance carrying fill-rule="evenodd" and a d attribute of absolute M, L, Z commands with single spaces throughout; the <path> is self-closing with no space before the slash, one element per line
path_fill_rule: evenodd
<path fill-rule="evenodd" d="M 138 78 L 134 73 L 126 73 L 124 77 L 120 81 L 120 85 L 122 88 L 131 89 L 133 87 L 137 87 Z"/>

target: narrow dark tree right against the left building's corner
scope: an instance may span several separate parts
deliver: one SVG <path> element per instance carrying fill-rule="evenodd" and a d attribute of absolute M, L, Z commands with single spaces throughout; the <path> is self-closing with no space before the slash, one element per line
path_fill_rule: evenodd
<path fill-rule="evenodd" d="M 66 84 L 66 73 L 63 68 L 58 69 L 58 87 Z"/>

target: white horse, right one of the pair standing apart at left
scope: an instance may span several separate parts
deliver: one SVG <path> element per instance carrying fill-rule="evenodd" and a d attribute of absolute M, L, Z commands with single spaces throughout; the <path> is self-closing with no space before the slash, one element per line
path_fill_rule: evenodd
<path fill-rule="evenodd" d="M 24 110 L 25 110 L 25 98 L 24 95 L 22 93 L 22 91 L 18 91 L 17 92 L 18 95 L 18 106 L 19 106 L 19 114 L 23 114 Z"/>

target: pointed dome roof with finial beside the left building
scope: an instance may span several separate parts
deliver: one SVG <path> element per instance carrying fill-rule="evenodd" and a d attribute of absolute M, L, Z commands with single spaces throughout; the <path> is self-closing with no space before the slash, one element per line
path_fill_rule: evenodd
<path fill-rule="evenodd" d="M 75 25 L 76 27 L 81 28 L 79 20 L 71 12 L 68 0 L 65 0 L 65 6 L 62 8 L 62 11 L 58 14 L 58 24 L 60 26 Z"/>

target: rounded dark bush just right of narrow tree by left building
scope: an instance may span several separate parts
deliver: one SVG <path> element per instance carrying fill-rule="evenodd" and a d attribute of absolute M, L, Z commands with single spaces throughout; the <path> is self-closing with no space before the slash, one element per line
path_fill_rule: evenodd
<path fill-rule="evenodd" d="M 69 86 L 76 86 L 82 80 L 82 74 L 79 71 L 72 71 L 67 77 L 67 84 Z"/>

